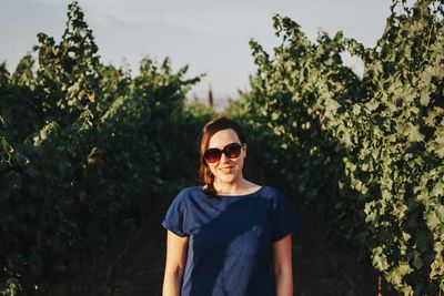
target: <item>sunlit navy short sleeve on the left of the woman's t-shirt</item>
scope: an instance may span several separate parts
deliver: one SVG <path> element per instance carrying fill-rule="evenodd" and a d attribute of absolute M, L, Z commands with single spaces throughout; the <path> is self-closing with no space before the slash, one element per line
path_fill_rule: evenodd
<path fill-rule="evenodd" d="M 167 211 L 165 217 L 162 221 L 162 226 L 179 236 L 186 236 L 184 233 L 184 194 L 183 191 L 179 193 Z"/>

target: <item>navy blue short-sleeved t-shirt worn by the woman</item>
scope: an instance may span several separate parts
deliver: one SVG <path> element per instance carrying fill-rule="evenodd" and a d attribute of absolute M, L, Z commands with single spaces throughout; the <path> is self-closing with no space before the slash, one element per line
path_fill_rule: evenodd
<path fill-rule="evenodd" d="M 213 198 L 201 186 L 186 187 L 162 225 L 190 237 L 181 296 L 274 296 L 272 244 L 300 226 L 271 186 Z"/>

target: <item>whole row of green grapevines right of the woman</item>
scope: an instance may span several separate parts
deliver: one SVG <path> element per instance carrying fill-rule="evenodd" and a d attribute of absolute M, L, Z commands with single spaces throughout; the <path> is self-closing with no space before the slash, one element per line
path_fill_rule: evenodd
<path fill-rule="evenodd" d="M 312 43 L 276 16 L 282 43 L 271 57 L 251 41 L 252 91 L 229 109 L 270 149 L 256 162 L 404 295 L 444 290 L 443 17 L 440 1 L 394 1 L 366 49 L 341 32 Z"/>

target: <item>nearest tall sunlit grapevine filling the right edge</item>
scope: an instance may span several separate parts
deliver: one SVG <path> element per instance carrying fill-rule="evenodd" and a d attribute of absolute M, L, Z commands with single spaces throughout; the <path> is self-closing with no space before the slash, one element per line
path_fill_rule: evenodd
<path fill-rule="evenodd" d="M 418 1 L 393 13 L 369 51 L 370 100 L 359 111 L 367 122 L 356 125 L 367 132 L 359 137 L 362 147 L 350 174 L 361 192 L 379 186 L 365 205 L 373 262 L 398 290 L 415 295 L 444 289 L 444 27 L 443 14 L 431 9 L 436 6 Z"/>

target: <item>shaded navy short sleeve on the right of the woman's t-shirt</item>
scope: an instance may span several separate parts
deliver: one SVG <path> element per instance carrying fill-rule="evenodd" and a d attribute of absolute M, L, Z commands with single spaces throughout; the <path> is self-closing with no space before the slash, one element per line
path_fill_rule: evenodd
<path fill-rule="evenodd" d="M 301 227 L 286 197 L 278 192 L 272 213 L 272 242 L 278 242 Z"/>

